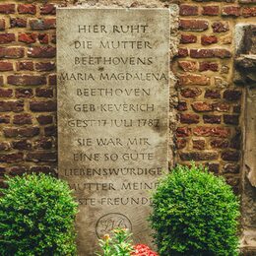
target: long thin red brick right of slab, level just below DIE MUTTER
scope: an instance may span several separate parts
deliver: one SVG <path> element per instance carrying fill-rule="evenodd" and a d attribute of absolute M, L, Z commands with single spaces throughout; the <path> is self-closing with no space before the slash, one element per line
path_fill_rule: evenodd
<path fill-rule="evenodd" d="M 226 49 L 191 49 L 190 57 L 192 58 L 230 58 L 231 53 Z"/>

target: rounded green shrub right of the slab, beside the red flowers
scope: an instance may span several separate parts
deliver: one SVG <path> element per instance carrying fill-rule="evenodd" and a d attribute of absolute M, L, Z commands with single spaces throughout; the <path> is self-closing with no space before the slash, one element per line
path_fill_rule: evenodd
<path fill-rule="evenodd" d="M 150 222 L 160 255 L 238 255 L 239 202 L 224 178 L 178 165 L 153 195 Z"/>

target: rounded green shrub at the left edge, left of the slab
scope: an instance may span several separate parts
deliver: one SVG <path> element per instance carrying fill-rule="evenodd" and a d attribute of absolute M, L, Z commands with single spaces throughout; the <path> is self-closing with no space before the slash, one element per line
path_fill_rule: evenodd
<path fill-rule="evenodd" d="M 7 178 L 0 197 L 0 255 L 75 255 L 77 203 L 45 174 Z"/>

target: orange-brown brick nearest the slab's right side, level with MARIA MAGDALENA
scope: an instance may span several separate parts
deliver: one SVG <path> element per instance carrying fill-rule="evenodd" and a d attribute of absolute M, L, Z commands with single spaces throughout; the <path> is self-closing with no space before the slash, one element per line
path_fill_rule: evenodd
<path fill-rule="evenodd" d="M 182 74 L 178 76 L 180 86 L 209 86 L 210 78 L 197 74 Z"/>

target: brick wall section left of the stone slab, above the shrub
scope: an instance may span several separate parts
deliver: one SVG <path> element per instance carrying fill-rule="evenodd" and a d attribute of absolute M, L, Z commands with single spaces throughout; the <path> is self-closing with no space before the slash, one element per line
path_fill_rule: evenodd
<path fill-rule="evenodd" d="M 1 176 L 56 168 L 55 7 L 33 2 L 0 2 Z"/>

